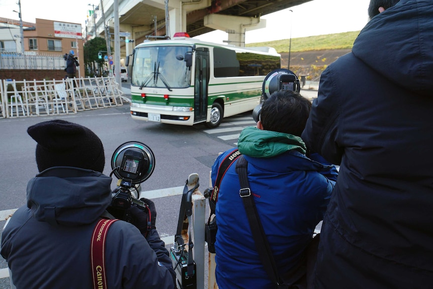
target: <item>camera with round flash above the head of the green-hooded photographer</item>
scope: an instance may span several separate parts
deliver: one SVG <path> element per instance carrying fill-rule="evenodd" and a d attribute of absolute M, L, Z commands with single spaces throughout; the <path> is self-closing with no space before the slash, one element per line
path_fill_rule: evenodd
<path fill-rule="evenodd" d="M 263 80 L 260 104 L 253 110 L 253 119 L 255 122 L 259 121 L 263 102 L 277 90 L 292 90 L 299 93 L 301 90 L 299 78 L 293 71 L 285 68 L 278 68 L 269 72 Z"/>

